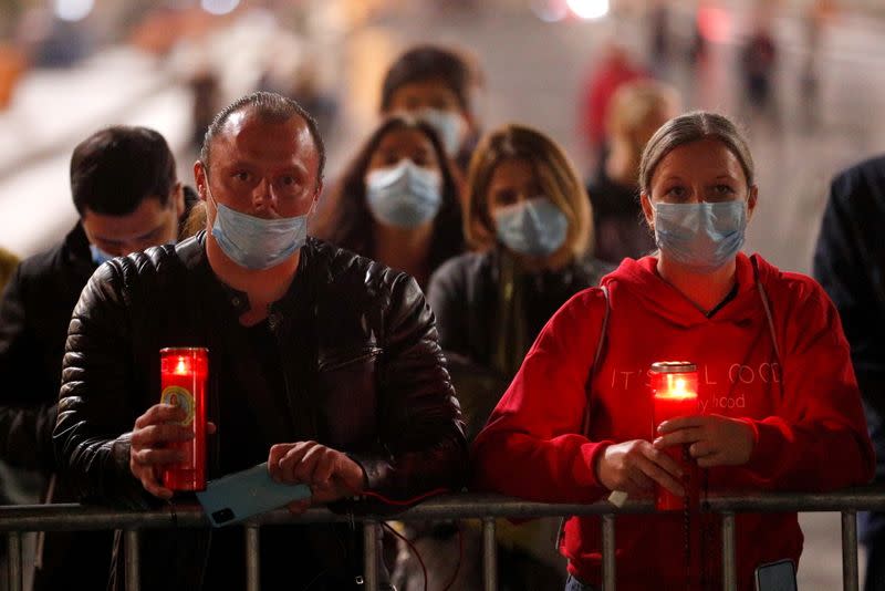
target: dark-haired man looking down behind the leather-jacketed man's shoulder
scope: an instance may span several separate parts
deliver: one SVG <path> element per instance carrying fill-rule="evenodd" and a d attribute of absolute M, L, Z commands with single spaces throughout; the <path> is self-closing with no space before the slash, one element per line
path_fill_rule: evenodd
<path fill-rule="evenodd" d="M 178 183 L 166 139 L 146 127 L 107 127 L 80 143 L 71 158 L 71 193 L 76 226 L 61 243 L 19 265 L 0 303 L 0 463 L 11 467 L 0 478 L 0 502 L 34 502 L 27 496 L 38 492 L 44 501 L 73 500 L 66 483 L 54 477 L 52 448 L 71 312 L 100 262 L 175 241 L 197 200 Z M 111 542 L 110 532 L 46 533 L 34 589 L 72 581 L 103 589 Z"/>

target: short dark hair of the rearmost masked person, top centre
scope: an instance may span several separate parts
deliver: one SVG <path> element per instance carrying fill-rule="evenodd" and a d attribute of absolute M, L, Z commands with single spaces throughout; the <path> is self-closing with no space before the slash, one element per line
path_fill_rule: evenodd
<path fill-rule="evenodd" d="M 381 110 L 391 108 L 394 93 L 406 84 L 440 80 L 458 97 L 465 113 L 472 113 L 470 92 L 481 83 L 471 60 L 436 45 L 417 45 L 400 55 L 387 70 L 381 91 Z"/>

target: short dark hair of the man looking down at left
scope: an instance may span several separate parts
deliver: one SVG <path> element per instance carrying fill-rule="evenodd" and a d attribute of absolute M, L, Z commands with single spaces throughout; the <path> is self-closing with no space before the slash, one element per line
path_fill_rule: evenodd
<path fill-rule="evenodd" d="M 125 216 L 148 197 L 166 206 L 175 184 L 175 156 L 166 139 L 147 127 L 106 127 L 71 156 L 71 194 L 81 216 L 86 209 Z"/>

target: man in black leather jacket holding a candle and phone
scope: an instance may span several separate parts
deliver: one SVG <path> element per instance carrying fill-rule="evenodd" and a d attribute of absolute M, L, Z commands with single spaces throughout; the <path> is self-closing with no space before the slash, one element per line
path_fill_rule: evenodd
<path fill-rule="evenodd" d="M 209 231 L 93 276 L 71 323 L 54 432 L 81 498 L 173 497 L 158 473 L 180 456 L 165 444 L 189 428 L 174 423 L 183 411 L 157 404 L 166 346 L 209 349 L 209 479 L 267 460 L 274 479 L 310 485 L 313 502 L 347 505 L 364 490 L 407 499 L 460 485 L 460 411 L 416 282 L 305 239 L 323 159 L 296 103 L 237 101 L 195 164 Z M 262 589 L 358 585 L 360 528 L 261 531 Z M 143 532 L 143 588 L 239 587 L 242 552 L 237 528 Z"/>

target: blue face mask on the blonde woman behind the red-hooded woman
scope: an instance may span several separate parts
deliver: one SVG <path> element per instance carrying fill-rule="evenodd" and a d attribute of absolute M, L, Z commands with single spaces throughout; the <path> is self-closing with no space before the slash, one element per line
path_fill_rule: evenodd
<path fill-rule="evenodd" d="M 546 257 L 565 242 L 569 219 L 550 199 L 535 197 L 499 208 L 494 227 L 498 239 L 510 250 Z"/>

